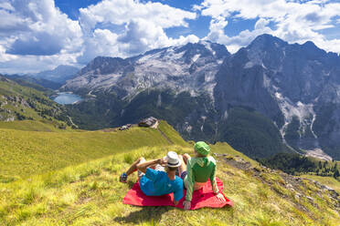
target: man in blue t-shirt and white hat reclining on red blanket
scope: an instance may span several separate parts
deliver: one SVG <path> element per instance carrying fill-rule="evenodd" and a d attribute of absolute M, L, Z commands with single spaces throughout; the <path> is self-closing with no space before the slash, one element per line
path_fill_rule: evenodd
<path fill-rule="evenodd" d="M 127 177 L 138 170 L 139 184 L 145 195 L 162 196 L 174 192 L 174 204 L 177 205 L 183 198 L 183 180 L 175 175 L 180 165 L 181 160 L 175 151 L 169 151 L 163 159 L 146 161 L 142 157 L 122 173 L 120 181 L 126 182 Z"/>

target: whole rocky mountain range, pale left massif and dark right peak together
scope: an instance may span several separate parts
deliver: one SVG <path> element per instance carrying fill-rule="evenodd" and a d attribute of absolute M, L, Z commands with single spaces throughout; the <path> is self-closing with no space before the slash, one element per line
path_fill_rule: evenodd
<path fill-rule="evenodd" d="M 153 115 L 186 139 L 226 140 L 253 157 L 289 147 L 340 158 L 340 57 L 312 42 L 262 35 L 234 55 L 200 42 L 97 57 L 63 88 L 114 94 L 106 126 Z M 80 108 L 102 108 L 89 101 Z"/>

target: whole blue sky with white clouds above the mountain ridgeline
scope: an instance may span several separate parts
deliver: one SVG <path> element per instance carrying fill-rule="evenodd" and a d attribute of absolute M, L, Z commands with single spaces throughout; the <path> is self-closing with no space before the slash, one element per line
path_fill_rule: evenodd
<path fill-rule="evenodd" d="M 0 0 L 0 21 L 10 74 L 199 40 L 235 53 L 264 33 L 340 53 L 339 0 Z"/>

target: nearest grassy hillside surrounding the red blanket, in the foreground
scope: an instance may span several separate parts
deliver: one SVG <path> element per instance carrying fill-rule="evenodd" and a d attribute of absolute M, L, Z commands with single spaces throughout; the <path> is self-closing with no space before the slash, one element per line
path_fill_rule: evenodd
<path fill-rule="evenodd" d="M 133 207 L 122 199 L 127 184 L 119 175 L 133 159 L 159 158 L 180 146 L 140 148 L 76 167 L 0 183 L 0 221 L 5 225 L 338 225 L 336 202 L 310 180 L 253 167 L 237 157 L 216 156 L 218 177 L 233 208 L 182 211 L 172 207 Z M 191 152 L 192 154 L 192 152 Z M 288 186 L 291 184 L 291 186 Z M 336 211 L 337 210 L 337 211 Z"/>

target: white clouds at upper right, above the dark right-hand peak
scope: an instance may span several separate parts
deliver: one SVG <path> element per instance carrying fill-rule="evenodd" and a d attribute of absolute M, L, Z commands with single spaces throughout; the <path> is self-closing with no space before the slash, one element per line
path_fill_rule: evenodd
<path fill-rule="evenodd" d="M 286 1 L 286 0 L 205 0 L 195 9 L 202 15 L 212 17 L 212 21 L 223 21 L 220 17 L 239 19 L 258 19 L 253 30 L 244 30 L 238 36 L 229 37 L 224 34 L 224 27 L 212 26 L 207 39 L 217 40 L 236 51 L 240 46 L 250 44 L 256 36 L 269 33 L 294 43 L 312 40 L 317 46 L 328 51 L 340 52 L 339 39 L 327 40 L 319 30 L 334 27 L 336 16 L 340 15 L 340 3 L 324 0 Z M 269 24 L 275 25 L 272 29 Z M 213 36 L 213 34 L 217 34 Z"/>

